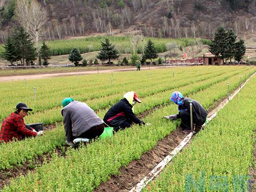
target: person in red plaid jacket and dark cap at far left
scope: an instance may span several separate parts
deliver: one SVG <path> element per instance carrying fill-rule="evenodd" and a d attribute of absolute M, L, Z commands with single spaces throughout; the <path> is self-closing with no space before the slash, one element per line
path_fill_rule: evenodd
<path fill-rule="evenodd" d="M 22 140 L 26 137 L 35 137 L 43 134 L 43 131 L 36 132 L 30 126 L 25 125 L 23 117 L 28 114 L 28 111 L 32 111 L 32 109 L 28 108 L 25 103 L 18 103 L 15 112 L 4 119 L 0 132 L 0 141 Z"/>

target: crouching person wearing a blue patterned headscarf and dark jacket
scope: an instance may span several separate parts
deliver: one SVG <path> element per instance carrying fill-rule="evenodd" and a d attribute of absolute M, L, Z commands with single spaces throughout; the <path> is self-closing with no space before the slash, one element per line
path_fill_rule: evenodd
<path fill-rule="evenodd" d="M 190 133 L 190 106 L 192 103 L 192 111 L 193 111 L 193 124 L 199 129 L 201 129 L 201 125 L 203 125 L 206 121 L 207 112 L 203 108 L 203 106 L 193 99 L 184 98 L 183 95 L 175 91 L 171 95 L 171 101 L 173 101 L 176 105 L 178 105 L 179 114 L 164 116 L 167 119 L 178 119 L 181 118 L 181 128 L 183 129 L 183 133 Z"/>

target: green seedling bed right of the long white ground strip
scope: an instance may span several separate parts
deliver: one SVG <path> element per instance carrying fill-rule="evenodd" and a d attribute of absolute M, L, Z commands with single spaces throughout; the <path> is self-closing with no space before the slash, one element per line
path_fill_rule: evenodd
<path fill-rule="evenodd" d="M 255 84 L 254 76 L 145 191 L 254 191 Z"/>

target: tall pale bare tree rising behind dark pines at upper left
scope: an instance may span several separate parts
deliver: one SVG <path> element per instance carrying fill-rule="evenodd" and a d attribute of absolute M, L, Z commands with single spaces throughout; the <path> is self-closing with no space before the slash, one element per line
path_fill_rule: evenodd
<path fill-rule="evenodd" d="M 39 56 L 39 38 L 47 21 L 47 12 L 36 0 L 17 0 L 16 17 L 20 24 L 28 31 L 36 43 L 36 51 Z M 39 65 L 40 59 L 39 59 Z"/>

